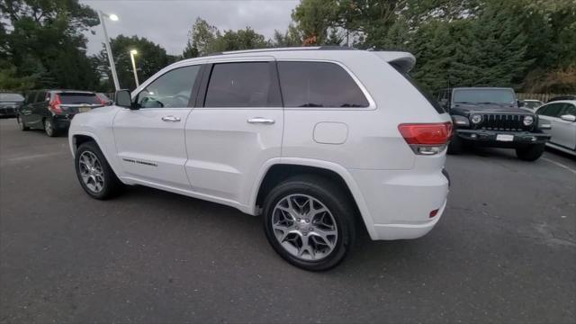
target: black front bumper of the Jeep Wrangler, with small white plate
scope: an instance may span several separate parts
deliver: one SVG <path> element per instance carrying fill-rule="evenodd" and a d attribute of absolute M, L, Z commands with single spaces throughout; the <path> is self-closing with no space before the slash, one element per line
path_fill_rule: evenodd
<path fill-rule="evenodd" d="M 511 141 L 496 139 L 498 135 L 512 135 Z M 482 143 L 495 147 L 514 147 L 515 144 L 542 144 L 550 139 L 550 135 L 530 131 L 504 131 L 504 130 L 456 130 L 456 136 L 461 139 Z"/>

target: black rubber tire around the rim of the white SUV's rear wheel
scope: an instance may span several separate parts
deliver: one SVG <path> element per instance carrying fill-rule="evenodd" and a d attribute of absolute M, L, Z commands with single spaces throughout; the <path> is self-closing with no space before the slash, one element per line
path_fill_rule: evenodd
<path fill-rule="evenodd" d="M 319 260 L 305 260 L 294 256 L 276 238 L 275 229 L 272 226 L 276 204 L 293 194 L 311 196 L 321 202 L 329 210 L 336 223 L 338 237 L 332 242 L 334 247 L 327 256 Z M 305 270 L 324 271 L 338 266 L 353 246 L 356 238 L 355 214 L 354 202 L 351 201 L 345 189 L 341 188 L 337 183 L 318 175 L 296 175 L 277 184 L 267 194 L 263 212 L 264 229 L 268 242 L 284 260 L 293 266 L 298 266 Z M 311 223 L 314 223 L 314 220 L 311 220 Z M 305 225 L 305 227 L 308 226 Z M 312 237 L 312 232 L 310 233 L 310 237 Z M 300 238 L 303 239 L 305 237 L 300 235 Z"/>

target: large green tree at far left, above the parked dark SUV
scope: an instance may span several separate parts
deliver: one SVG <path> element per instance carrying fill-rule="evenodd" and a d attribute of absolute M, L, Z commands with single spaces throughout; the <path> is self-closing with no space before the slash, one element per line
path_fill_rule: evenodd
<path fill-rule="evenodd" d="M 2 67 L 6 77 L 24 78 L 29 87 L 90 89 L 98 84 L 85 55 L 83 31 L 98 23 L 77 0 L 0 0 Z"/>

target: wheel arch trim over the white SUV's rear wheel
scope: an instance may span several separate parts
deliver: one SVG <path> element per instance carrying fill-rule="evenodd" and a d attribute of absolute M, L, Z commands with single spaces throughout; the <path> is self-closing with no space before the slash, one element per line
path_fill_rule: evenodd
<path fill-rule="evenodd" d="M 260 176 L 258 176 L 252 193 L 250 202 L 250 207 L 253 208 L 252 213 L 260 213 L 266 194 L 275 184 L 279 184 L 293 175 L 302 174 L 320 175 L 338 184 L 350 197 L 350 201 L 354 203 L 354 207 L 362 218 L 370 236 L 374 237 L 375 233 L 373 233 L 374 229 L 372 226 L 374 221 L 370 216 L 367 204 L 362 193 L 360 193 L 356 181 L 345 167 L 328 161 L 287 157 L 268 161 L 266 166 L 263 167 Z"/>

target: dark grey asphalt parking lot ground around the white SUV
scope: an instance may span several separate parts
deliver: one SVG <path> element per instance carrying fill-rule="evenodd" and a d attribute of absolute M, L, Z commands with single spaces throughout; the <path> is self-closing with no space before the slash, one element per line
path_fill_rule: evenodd
<path fill-rule="evenodd" d="M 309 273 L 234 209 L 144 187 L 95 201 L 66 137 L 0 120 L 0 321 L 574 323 L 576 160 L 482 149 L 446 168 L 428 236 L 363 236 Z"/>

